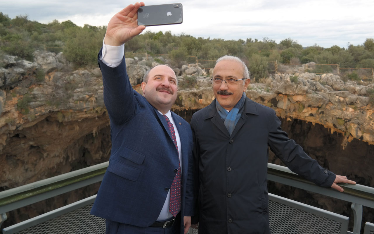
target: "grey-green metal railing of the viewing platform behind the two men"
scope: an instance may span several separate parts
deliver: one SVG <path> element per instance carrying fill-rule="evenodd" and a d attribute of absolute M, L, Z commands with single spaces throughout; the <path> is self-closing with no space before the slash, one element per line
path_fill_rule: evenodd
<path fill-rule="evenodd" d="M 104 162 L 0 192 L 0 222 L 2 223 L 7 218 L 6 212 L 101 181 L 107 166 L 108 162 Z M 358 184 L 342 184 L 340 186 L 344 188 L 344 192 L 338 192 L 331 188 L 319 187 L 286 167 L 270 163 L 268 164 L 267 176 L 268 180 L 274 182 L 349 201 L 352 203 L 351 207 L 354 212 L 353 230 L 350 232 L 347 231 L 348 217 L 269 194 L 269 220 L 272 233 L 359 234 L 361 231 L 362 206 L 374 208 L 374 188 L 371 187 Z M 89 233 L 104 233 L 105 220 L 89 215 L 95 197 L 77 201 L 19 224 L 6 227 L 3 229 L 3 234 L 80 233 L 80 230 L 90 230 Z M 315 229 L 311 229 L 312 227 Z M 46 232 L 47 228 L 52 229 L 48 229 L 49 231 Z M 53 228 L 56 231 L 52 231 Z M 59 232 L 61 230 L 64 231 Z M 196 233 L 196 230 L 191 229 L 190 233 Z M 364 234 L 374 234 L 374 225 L 367 222 Z"/>

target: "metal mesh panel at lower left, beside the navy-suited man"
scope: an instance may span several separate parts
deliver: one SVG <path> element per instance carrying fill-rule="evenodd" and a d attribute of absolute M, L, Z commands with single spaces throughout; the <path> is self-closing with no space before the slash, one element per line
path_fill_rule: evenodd
<path fill-rule="evenodd" d="M 93 204 L 58 216 L 49 221 L 27 228 L 17 234 L 95 234 L 105 233 L 105 219 L 93 216 L 90 210 Z"/>

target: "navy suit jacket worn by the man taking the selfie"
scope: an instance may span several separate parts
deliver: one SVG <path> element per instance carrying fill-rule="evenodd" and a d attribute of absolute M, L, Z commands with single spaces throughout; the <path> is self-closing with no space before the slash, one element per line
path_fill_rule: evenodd
<path fill-rule="evenodd" d="M 178 152 L 165 118 L 132 88 L 125 58 L 115 68 L 106 66 L 100 59 L 98 63 L 110 118 L 112 148 L 91 214 L 149 227 L 158 218 L 174 180 Z M 192 186 L 188 186 L 186 193 L 193 140 L 190 125 L 177 114 L 171 112 L 171 115 L 181 140 L 183 221 L 183 216 L 193 215 Z"/>

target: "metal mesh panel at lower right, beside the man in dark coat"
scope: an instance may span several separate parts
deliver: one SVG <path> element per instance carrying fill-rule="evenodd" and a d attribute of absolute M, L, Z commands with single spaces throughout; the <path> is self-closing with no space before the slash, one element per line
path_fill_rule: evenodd
<path fill-rule="evenodd" d="M 269 222 L 272 234 L 340 234 L 341 223 L 303 210 L 269 201 Z"/>

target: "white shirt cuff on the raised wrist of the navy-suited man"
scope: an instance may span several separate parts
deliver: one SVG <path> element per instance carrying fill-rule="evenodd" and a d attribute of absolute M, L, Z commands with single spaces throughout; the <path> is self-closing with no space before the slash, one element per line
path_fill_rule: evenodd
<path fill-rule="evenodd" d="M 122 63 L 123 56 L 125 55 L 125 44 L 120 46 L 105 45 L 102 40 L 102 53 L 101 60 L 108 67 L 117 67 Z"/>

